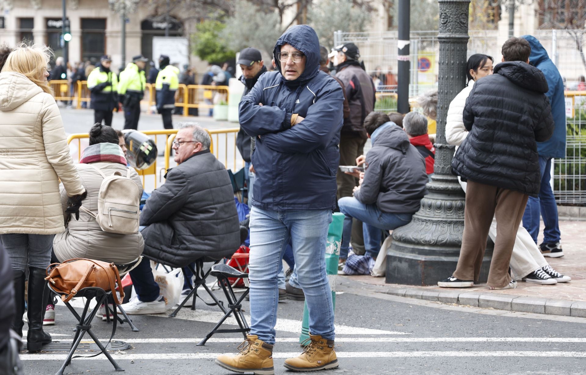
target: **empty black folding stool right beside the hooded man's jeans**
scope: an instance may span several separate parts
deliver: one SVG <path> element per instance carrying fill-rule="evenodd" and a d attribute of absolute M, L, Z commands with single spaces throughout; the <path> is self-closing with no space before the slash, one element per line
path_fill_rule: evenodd
<path fill-rule="evenodd" d="M 230 280 L 228 278 L 242 278 L 244 283 L 248 284 L 248 274 L 240 272 L 239 270 L 236 270 L 236 268 L 230 267 L 224 263 L 214 264 L 210 269 L 210 274 L 218 279 L 218 283 L 226 295 L 226 301 L 228 301 L 228 310 L 224 311 L 223 318 L 217 322 L 216 326 L 210 330 L 210 333 L 208 333 L 203 340 L 197 343 L 197 346 L 206 345 L 206 341 L 211 338 L 214 333 L 242 333 L 244 339 L 246 339 L 246 334 L 250 332 L 250 327 L 248 327 L 246 318 L 244 318 L 244 314 L 242 312 L 242 301 L 244 301 L 244 298 L 246 298 L 250 289 L 247 287 L 240 298 L 236 298 L 236 294 L 234 294 L 232 285 L 230 284 Z M 230 314 L 234 315 L 234 318 L 238 322 L 240 328 L 219 329 L 222 323 L 224 323 L 224 321 L 226 321 L 226 319 L 230 316 Z"/>

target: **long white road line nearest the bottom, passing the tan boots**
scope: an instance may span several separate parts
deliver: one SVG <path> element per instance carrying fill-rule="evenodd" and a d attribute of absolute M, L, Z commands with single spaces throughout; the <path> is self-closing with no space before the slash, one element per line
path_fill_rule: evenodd
<path fill-rule="evenodd" d="M 114 355 L 116 360 L 169 360 L 169 359 L 215 359 L 221 354 L 229 356 L 231 353 L 132 353 Z M 299 352 L 273 353 L 273 358 L 297 357 Z M 338 358 L 388 358 L 388 357 L 586 357 L 586 352 L 537 352 L 537 351 L 511 351 L 511 352 L 340 352 L 336 350 Z M 21 360 L 60 360 L 66 359 L 67 354 L 21 354 Z M 105 356 L 85 357 L 84 360 L 108 360 Z M 78 359 L 74 359 L 76 362 Z"/>

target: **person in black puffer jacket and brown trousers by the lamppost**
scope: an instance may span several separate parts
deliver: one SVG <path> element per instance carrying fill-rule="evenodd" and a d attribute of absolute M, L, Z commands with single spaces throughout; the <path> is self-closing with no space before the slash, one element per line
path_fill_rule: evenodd
<path fill-rule="evenodd" d="M 478 281 L 493 216 L 498 223 L 488 275 L 490 289 L 515 288 L 509 262 L 529 196 L 540 188 L 536 142 L 547 141 L 554 122 L 546 77 L 529 65 L 527 40 L 510 38 L 495 74 L 476 81 L 466 107 L 469 131 L 452 160 L 468 181 L 464 234 L 458 266 L 440 287 L 471 287 Z"/>

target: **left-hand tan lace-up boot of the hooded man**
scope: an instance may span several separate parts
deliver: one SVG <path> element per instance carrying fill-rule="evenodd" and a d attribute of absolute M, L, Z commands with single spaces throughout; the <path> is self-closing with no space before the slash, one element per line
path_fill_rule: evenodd
<path fill-rule="evenodd" d="M 272 345 L 259 340 L 257 335 L 246 335 L 246 340 L 238 347 L 236 356 L 218 356 L 216 363 L 235 373 L 254 373 L 274 375 L 272 366 Z"/>

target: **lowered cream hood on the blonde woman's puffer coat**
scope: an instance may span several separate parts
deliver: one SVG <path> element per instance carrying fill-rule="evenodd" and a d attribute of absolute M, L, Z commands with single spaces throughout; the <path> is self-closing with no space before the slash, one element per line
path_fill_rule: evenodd
<path fill-rule="evenodd" d="M 24 74 L 14 71 L 0 73 L 0 111 L 12 111 L 43 90 Z"/>

